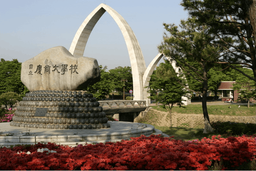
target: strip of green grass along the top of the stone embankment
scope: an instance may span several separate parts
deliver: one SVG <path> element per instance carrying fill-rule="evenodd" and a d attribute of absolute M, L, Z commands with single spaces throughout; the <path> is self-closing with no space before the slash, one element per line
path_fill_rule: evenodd
<path fill-rule="evenodd" d="M 231 108 L 228 108 L 231 106 Z M 227 115 L 227 116 L 255 116 L 255 105 L 247 108 L 246 105 L 231 104 L 231 105 L 207 105 L 207 111 L 209 115 Z M 165 109 L 162 109 L 158 106 L 152 106 L 152 108 L 168 112 Z M 203 109 L 201 104 L 189 104 L 186 106 L 174 106 L 172 112 L 181 113 L 181 114 L 202 114 Z"/>

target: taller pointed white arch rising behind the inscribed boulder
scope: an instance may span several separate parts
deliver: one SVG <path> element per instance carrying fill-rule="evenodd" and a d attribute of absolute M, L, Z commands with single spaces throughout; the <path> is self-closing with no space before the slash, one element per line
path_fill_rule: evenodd
<path fill-rule="evenodd" d="M 94 26 L 105 11 L 107 11 L 112 16 L 120 28 L 126 43 L 127 50 L 129 52 L 133 73 L 134 99 L 143 99 L 144 87 L 142 77 L 146 70 L 146 65 L 139 42 L 133 30 L 124 20 L 124 18 L 108 5 L 100 4 L 91 12 L 91 14 L 88 15 L 88 17 L 83 21 L 82 25 L 77 30 L 69 51 L 75 57 L 83 56 L 89 36 Z"/>

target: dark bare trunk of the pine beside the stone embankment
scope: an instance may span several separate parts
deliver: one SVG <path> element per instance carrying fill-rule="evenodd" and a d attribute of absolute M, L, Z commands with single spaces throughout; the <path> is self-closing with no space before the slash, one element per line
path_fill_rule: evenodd
<path fill-rule="evenodd" d="M 207 74 L 207 73 L 206 73 Z M 206 76 L 205 74 L 205 76 Z M 207 90 L 208 90 L 208 83 L 207 83 L 207 77 L 205 77 L 204 83 L 203 83 L 203 97 L 202 97 L 202 108 L 203 108 L 203 114 L 204 114 L 204 134 L 211 133 L 212 127 L 210 125 L 210 119 L 207 112 Z"/>

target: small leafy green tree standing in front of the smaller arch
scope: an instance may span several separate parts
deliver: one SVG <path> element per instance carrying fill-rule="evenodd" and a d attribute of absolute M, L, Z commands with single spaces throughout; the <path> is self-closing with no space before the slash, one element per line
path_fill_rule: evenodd
<path fill-rule="evenodd" d="M 178 78 L 168 60 L 165 63 L 160 63 L 155 73 L 152 74 L 150 80 L 150 90 L 152 100 L 161 103 L 164 109 L 169 109 L 172 113 L 172 108 L 175 103 L 182 104 L 182 96 L 188 97 L 187 91 L 181 86 L 182 78 Z"/>

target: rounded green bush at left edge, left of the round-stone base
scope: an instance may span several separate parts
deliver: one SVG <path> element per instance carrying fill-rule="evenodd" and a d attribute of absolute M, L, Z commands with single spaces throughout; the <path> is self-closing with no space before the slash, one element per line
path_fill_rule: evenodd
<path fill-rule="evenodd" d="M 22 100 L 22 97 L 14 92 L 7 92 L 0 95 L 0 104 L 4 104 L 6 110 L 15 108 L 16 103 L 20 100 Z"/>

